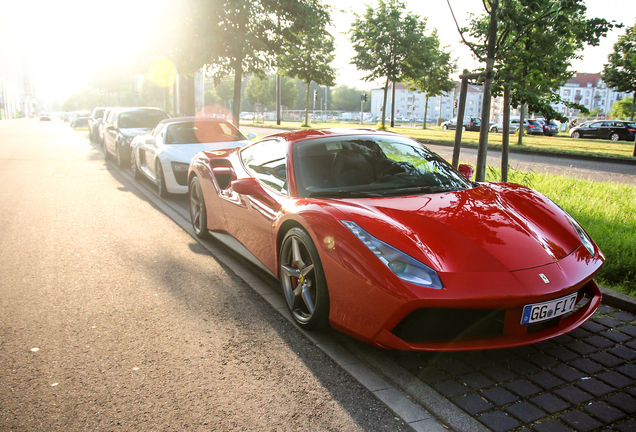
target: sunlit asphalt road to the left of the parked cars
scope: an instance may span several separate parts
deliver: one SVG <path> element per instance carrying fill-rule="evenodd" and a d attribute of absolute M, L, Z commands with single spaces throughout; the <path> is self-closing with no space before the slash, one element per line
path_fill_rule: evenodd
<path fill-rule="evenodd" d="M 61 121 L 0 122 L 0 430 L 408 430 Z"/>

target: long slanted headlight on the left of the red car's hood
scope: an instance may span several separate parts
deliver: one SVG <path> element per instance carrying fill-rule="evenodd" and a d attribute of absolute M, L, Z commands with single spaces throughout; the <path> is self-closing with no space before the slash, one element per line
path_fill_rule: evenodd
<path fill-rule="evenodd" d="M 351 221 L 340 221 L 355 235 L 382 263 L 405 282 L 426 288 L 442 289 L 442 281 L 437 272 L 415 258 L 393 246 L 373 237 Z"/>

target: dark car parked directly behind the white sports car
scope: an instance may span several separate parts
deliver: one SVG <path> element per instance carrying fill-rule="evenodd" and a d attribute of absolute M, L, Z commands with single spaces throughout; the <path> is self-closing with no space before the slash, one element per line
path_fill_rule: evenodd
<path fill-rule="evenodd" d="M 130 157 L 130 143 L 137 135 L 147 134 L 161 120 L 170 118 L 159 108 L 118 108 L 111 112 L 104 127 L 104 157 L 114 157 L 125 167 Z"/>

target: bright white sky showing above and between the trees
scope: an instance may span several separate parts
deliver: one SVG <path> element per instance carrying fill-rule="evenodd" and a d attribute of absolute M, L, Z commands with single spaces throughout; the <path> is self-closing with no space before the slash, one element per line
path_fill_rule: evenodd
<path fill-rule="evenodd" d="M 0 0 L 0 14 L 36 74 L 37 92 L 41 97 L 63 102 L 84 84 L 91 65 L 99 59 L 119 57 L 140 43 L 148 43 L 148 29 L 161 25 L 159 9 L 165 0 Z M 337 55 L 334 66 L 339 70 L 337 84 L 370 89 L 378 83 L 361 81 L 364 76 L 349 65 L 354 51 L 348 37 L 354 13 L 363 14 L 366 4 L 374 1 L 323 0 L 334 5 L 334 29 Z M 469 12 L 481 13 L 480 0 L 450 0 L 455 16 L 464 24 Z M 586 0 L 588 16 L 616 20 L 628 26 L 636 24 L 634 0 Z M 407 8 L 428 17 L 427 27 L 437 28 L 442 46 L 450 46 L 458 58 L 460 70 L 479 65 L 470 51 L 461 45 L 452 16 L 445 0 L 425 2 L 406 0 Z M 576 61 L 577 72 L 600 72 L 607 55 L 623 29 L 614 30 L 599 47 L 585 50 L 585 58 Z"/>

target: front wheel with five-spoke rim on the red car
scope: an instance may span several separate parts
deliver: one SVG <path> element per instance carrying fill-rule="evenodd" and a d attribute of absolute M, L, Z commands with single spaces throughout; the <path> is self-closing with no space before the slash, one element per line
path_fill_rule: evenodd
<path fill-rule="evenodd" d="M 327 280 L 309 234 L 301 228 L 290 229 L 283 239 L 279 258 L 283 294 L 294 321 L 308 330 L 327 327 Z"/>

